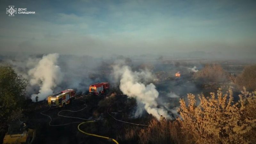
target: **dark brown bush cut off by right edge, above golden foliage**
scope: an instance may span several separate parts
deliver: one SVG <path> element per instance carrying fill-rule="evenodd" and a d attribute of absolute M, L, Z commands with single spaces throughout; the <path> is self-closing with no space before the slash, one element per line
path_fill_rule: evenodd
<path fill-rule="evenodd" d="M 247 66 L 236 79 L 237 86 L 242 89 L 256 90 L 256 65 Z"/>

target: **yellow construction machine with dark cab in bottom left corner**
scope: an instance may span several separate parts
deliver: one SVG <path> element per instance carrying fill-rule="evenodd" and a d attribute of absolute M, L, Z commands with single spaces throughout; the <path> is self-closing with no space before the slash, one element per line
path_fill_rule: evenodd
<path fill-rule="evenodd" d="M 9 125 L 5 133 L 3 144 L 32 144 L 36 138 L 36 131 L 29 129 L 26 122 L 14 122 Z"/>

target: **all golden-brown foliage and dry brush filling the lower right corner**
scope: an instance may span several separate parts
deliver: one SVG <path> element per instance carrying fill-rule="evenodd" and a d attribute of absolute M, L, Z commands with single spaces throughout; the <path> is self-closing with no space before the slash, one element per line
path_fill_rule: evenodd
<path fill-rule="evenodd" d="M 231 89 L 217 96 L 188 94 L 188 105 L 180 99 L 180 116 L 174 121 L 153 119 L 140 131 L 140 143 L 256 143 L 256 91 L 245 90 L 234 102 Z"/>

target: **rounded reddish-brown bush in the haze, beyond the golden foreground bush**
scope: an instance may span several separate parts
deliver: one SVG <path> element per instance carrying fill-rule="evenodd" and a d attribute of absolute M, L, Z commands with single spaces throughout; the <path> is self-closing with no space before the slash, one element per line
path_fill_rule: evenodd
<path fill-rule="evenodd" d="M 195 79 L 203 82 L 222 83 L 229 80 L 228 72 L 220 65 L 205 65 L 205 67 L 194 74 Z"/>

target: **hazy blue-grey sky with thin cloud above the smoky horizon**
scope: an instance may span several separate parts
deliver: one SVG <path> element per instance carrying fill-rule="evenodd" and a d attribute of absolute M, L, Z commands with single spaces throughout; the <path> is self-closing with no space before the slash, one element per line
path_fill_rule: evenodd
<path fill-rule="evenodd" d="M 6 8 L 35 14 L 9 17 Z M 256 1 L 1 0 L 0 53 L 255 57 Z"/>

